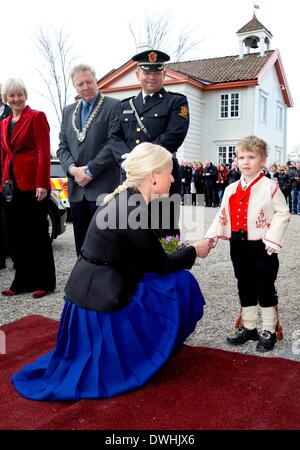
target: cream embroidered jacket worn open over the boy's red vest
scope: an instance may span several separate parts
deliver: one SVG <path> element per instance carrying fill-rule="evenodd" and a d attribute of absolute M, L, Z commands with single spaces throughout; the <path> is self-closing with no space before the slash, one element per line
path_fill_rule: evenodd
<path fill-rule="evenodd" d="M 207 230 L 205 238 L 230 239 L 231 220 L 229 199 L 240 183 L 231 183 L 225 189 L 218 214 Z M 245 191 L 246 192 L 246 191 Z M 250 191 L 247 228 L 248 239 L 263 239 L 271 247 L 281 248 L 290 221 L 289 208 L 278 184 L 267 177 L 261 178 Z"/>

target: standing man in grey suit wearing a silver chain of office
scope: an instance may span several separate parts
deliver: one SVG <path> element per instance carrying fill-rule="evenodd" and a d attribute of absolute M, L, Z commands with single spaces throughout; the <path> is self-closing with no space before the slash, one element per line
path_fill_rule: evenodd
<path fill-rule="evenodd" d="M 57 156 L 68 176 L 69 202 L 77 255 L 97 208 L 100 194 L 112 192 L 120 181 L 120 169 L 108 145 L 108 132 L 119 101 L 98 91 L 91 66 L 80 64 L 71 71 L 80 101 L 63 111 Z"/>

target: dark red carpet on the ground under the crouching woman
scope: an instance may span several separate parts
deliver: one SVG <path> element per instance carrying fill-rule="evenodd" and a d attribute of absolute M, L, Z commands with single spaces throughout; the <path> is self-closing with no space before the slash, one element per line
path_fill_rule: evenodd
<path fill-rule="evenodd" d="M 5 325 L 0 354 L 0 429 L 299 429 L 300 364 L 183 346 L 150 383 L 110 400 L 36 402 L 11 375 L 50 350 L 58 322 L 29 316 Z"/>

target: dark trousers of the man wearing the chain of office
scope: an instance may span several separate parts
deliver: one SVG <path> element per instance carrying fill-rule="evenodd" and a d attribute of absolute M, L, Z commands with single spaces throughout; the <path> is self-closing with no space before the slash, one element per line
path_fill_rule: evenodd
<path fill-rule="evenodd" d="M 97 205 L 96 201 L 88 201 L 84 197 L 81 202 L 70 202 L 70 208 L 73 220 L 76 253 L 77 256 L 79 256 L 87 229 L 97 209 Z"/>

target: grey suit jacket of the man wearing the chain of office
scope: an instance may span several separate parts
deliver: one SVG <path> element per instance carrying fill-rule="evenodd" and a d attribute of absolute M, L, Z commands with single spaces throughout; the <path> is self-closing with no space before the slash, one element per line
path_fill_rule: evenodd
<path fill-rule="evenodd" d="M 96 107 L 95 102 L 94 108 Z M 68 177 L 69 200 L 79 202 L 85 196 L 95 201 L 98 195 L 112 192 L 120 181 L 120 169 L 107 142 L 108 131 L 116 115 L 119 101 L 105 97 L 83 142 L 77 140 L 72 127 L 72 116 L 77 103 L 63 110 L 60 142 L 57 156 Z M 80 108 L 76 117 L 76 126 L 80 129 Z M 94 178 L 85 187 L 80 187 L 68 172 L 71 164 L 87 165 Z"/>

